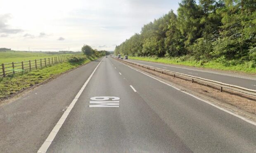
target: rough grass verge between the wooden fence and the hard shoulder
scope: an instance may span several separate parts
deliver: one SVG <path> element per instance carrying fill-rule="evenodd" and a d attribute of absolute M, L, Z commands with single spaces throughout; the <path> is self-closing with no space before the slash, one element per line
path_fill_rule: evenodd
<path fill-rule="evenodd" d="M 42 69 L 32 70 L 30 72 L 14 74 L 6 78 L 0 78 L 0 99 L 55 77 L 72 68 L 78 67 L 79 65 L 89 63 L 91 60 L 95 59 L 97 59 L 95 56 L 86 57 L 83 55 L 76 55 L 76 58 L 70 58 L 69 61 L 66 62 L 49 65 Z"/>

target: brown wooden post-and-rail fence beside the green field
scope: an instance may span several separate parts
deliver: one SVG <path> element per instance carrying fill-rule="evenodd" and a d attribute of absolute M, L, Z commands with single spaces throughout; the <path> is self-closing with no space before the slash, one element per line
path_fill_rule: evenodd
<path fill-rule="evenodd" d="M 36 60 L 5 63 L 0 66 L 0 77 L 6 77 L 8 74 L 24 72 L 25 70 L 31 71 L 32 69 L 43 68 L 47 65 L 63 62 L 65 60 L 68 60 L 69 56 L 70 55 L 54 56 L 54 57 L 41 58 Z"/>

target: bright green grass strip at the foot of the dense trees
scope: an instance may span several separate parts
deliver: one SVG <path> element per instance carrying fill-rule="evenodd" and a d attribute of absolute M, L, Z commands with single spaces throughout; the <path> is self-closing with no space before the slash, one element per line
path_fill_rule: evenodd
<path fill-rule="evenodd" d="M 175 65 L 186 65 L 193 67 L 203 67 L 216 70 L 226 70 L 233 72 L 244 72 L 248 74 L 256 74 L 256 65 L 252 62 L 235 63 L 234 61 L 227 61 L 226 63 L 220 63 L 216 61 L 196 61 L 196 60 L 184 60 L 181 58 L 150 58 L 150 57 L 129 57 L 129 59 L 145 60 L 149 62 L 158 62 Z"/>

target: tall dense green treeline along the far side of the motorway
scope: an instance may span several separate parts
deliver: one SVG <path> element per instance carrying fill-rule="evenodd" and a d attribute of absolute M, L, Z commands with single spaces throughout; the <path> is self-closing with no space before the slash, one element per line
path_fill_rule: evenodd
<path fill-rule="evenodd" d="M 256 0 L 182 0 L 116 46 L 115 54 L 256 62 Z"/>

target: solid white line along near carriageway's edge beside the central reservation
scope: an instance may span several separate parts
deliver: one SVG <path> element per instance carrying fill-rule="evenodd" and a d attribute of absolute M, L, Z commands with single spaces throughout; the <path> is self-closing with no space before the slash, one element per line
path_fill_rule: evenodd
<path fill-rule="evenodd" d="M 118 61 L 118 62 L 119 62 L 119 61 Z M 121 62 L 119 62 L 119 63 L 121 63 Z M 123 63 L 121 63 L 121 64 L 123 64 Z M 123 64 L 123 65 L 126 65 L 126 64 Z M 126 66 L 130 67 L 129 65 L 126 65 Z M 137 72 L 140 72 L 140 73 L 142 73 L 142 74 L 145 74 L 145 75 L 147 75 L 147 76 L 149 76 L 149 77 L 151 77 L 151 78 L 153 78 L 153 79 L 155 79 L 155 80 L 157 80 L 157 81 L 159 81 L 159 82 L 161 82 L 161 83 L 164 83 L 164 84 L 166 84 L 166 85 L 168 85 L 168 86 L 171 86 L 171 87 L 173 87 L 173 88 L 175 88 L 175 89 L 177 89 L 177 90 L 179 90 L 179 91 L 181 91 L 181 92 L 183 92 L 183 93 L 185 93 L 185 94 L 187 94 L 187 95 L 190 95 L 190 96 L 192 96 L 192 97 L 194 97 L 194 98 L 196 98 L 196 99 L 198 99 L 198 100 L 201 100 L 201 101 L 203 101 L 203 102 L 206 102 L 207 104 L 210 104 L 210 105 L 213 106 L 213 107 L 216 107 L 216 108 L 218 108 L 218 109 L 220 109 L 220 110 L 222 110 L 222 111 L 225 111 L 225 112 L 228 113 L 228 114 L 231 114 L 231 115 L 233 115 L 233 116 L 236 116 L 237 118 L 240 118 L 240 119 L 242 119 L 242 120 L 244 120 L 244 121 L 246 121 L 246 122 L 248 122 L 248 123 L 251 123 L 252 125 L 255 125 L 255 126 L 256 126 L 256 123 L 255 123 L 254 121 L 248 120 L 247 118 L 244 118 L 243 116 L 237 115 L 237 114 L 235 114 L 235 113 L 233 113 L 233 112 L 231 112 L 231 111 L 228 111 L 227 109 L 224 109 L 224 108 L 222 108 L 222 107 L 219 107 L 219 106 L 217 106 L 216 104 L 212 104 L 212 103 L 209 102 L 209 101 L 203 100 L 203 99 L 201 99 L 201 98 L 199 98 L 199 97 L 197 97 L 197 96 L 195 96 L 195 95 L 192 95 L 192 94 L 190 94 L 190 93 L 187 93 L 187 92 L 185 92 L 185 91 L 182 91 L 182 90 L 180 90 L 179 88 L 176 88 L 176 87 L 174 87 L 174 86 L 172 86 L 172 85 L 170 85 L 170 84 L 168 84 L 168 83 L 165 83 L 164 81 L 161 81 L 161 80 L 159 80 L 159 79 L 156 79 L 156 78 L 154 78 L 153 76 L 150 76 L 150 75 L 148 75 L 148 74 L 146 74 L 146 73 L 144 73 L 144 72 L 141 72 L 141 71 L 139 71 L 139 70 L 136 70 L 136 69 L 134 69 L 133 67 L 130 67 L 130 68 L 133 69 L 133 70 L 135 70 L 135 71 L 137 71 Z"/>

